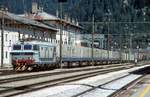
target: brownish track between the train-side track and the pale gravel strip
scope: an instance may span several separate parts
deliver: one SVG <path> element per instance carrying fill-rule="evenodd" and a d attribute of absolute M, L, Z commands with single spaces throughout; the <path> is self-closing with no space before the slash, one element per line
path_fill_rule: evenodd
<path fill-rule="evenodd" d="M 109 67 L 109 66 L 108 66 Z M 109 68 L 86 68 L 77 69 L 74 71 L 63 72 L 44 72 L 43 74 L 20 74 L 20 76 L 5 76 L 0 77 L 0 96 L 10 97 L 13 95 L 26 93 L 29 91 L 35 91 L 41 88 L 54 86 L 57 84 L 72 82 L 87 77 L 109 73 L 113 71 L 119 71 L 133 67 L 133 65 L 116 65 Z"/>

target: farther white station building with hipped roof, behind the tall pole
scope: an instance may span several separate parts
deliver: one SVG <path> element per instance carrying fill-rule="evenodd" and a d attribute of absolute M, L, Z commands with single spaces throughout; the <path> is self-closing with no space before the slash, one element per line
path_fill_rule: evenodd
<path fill-rule="evenodd" d="M 78 25 L 75 20 L 60 19 L 57 16 L 48 14 L 42 10 L 36 11 L 28 15 L 21 15 L 23 17 L 28 17 L 30 19 L 36 20 L 47 26 L 52 26 L 57 28 L 56 41 L 60 41 L 60 29 L 62 30 L 62 42 L 63 44 L 76 45 L 80 44 L 80 34 L 84 29 Z M 62 26 L 62 27 L 61 27 Z"/>

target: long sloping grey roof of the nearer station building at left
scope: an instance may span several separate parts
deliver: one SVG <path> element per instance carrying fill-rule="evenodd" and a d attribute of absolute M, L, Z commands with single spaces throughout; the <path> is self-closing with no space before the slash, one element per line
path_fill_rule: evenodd
<path fill-rule="evenodd" d="M 37 26 L 37 27 L 40 27 L 40 28 L 45 28 L 45 29 L 48 29 L 48 30 L 57 31 L 57 29 L 54 28 L 54 27 L 50 27 L 50 26 L 47 26 L 47 25 L 45 25 L 41 22 L 38 22 L 38 21 L 35 21 L 35 20 L 32 20 L 32 19 L 28 19 L 28 18 L 24 18 L 24 17 L 18 16 L 18 15 L 9 13 L 9 12 L 0 11 L 0 18 L 2 18 L 2 14 L 4 14 L 4 18 L 6 18 L 6 19 L 15 20 L 15 21 L 23 23 L 23 24 Z"/>

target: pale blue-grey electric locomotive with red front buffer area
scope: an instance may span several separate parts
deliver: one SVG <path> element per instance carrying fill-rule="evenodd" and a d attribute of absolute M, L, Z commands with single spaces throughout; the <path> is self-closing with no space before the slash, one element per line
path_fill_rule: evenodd
<path fill-rule="evenodd" d="M 15 71 L 47 68 L 56 63 L 56 46 L 38 41 L 19 42 L 12 46 L 11 59 Z"/>

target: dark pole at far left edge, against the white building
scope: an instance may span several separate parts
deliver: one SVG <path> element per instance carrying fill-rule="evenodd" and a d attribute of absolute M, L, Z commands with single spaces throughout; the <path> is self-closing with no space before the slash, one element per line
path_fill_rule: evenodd
<path fill-rule="evenodd" d="M 2 21 L 1 21 L 1 68 L 3 68 L 4 59 L 4 9 L 2 10 Z"/>

